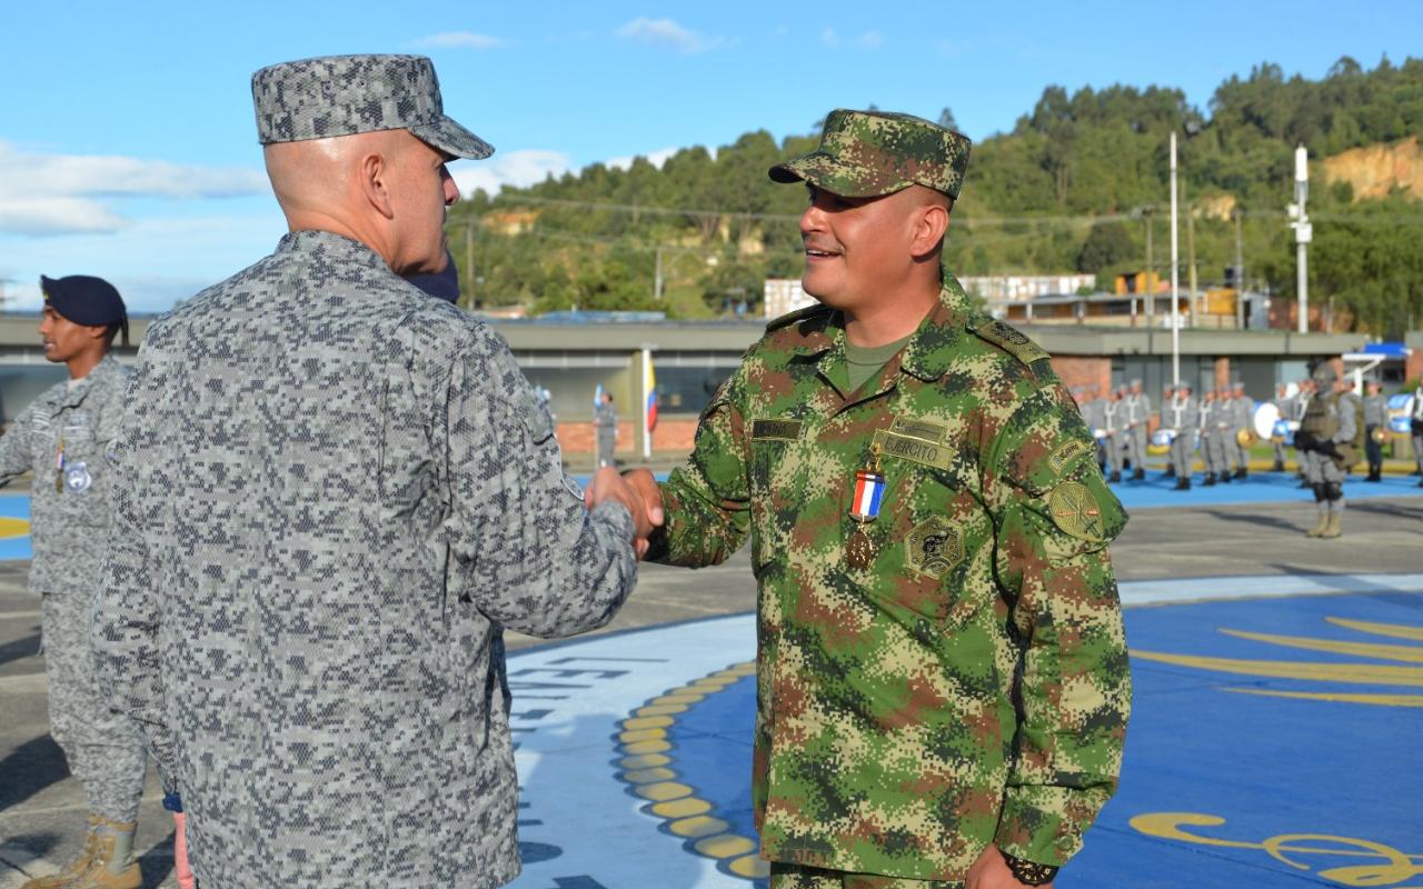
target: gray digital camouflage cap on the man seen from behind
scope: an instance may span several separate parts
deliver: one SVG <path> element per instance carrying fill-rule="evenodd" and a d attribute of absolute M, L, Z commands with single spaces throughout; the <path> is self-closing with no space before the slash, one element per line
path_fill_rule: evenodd
<path fill-rule="evenodd" d="M 424 55 L 283 61 L 252 75 L 252 104 L 263 145 L 408 129 L 457 158 L 494 154 L 492 145 L 445 117 L 435 67 Z"/>

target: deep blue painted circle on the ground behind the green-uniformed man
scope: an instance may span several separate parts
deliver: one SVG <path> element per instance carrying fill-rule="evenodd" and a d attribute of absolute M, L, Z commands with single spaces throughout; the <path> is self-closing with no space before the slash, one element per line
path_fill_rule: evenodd
<path fill-rule="evenodd" d="M 1331 616 L 1423 627 L 1423 595 L 1377 592 L 1130 609 L 1127 634 L 1133 650 L 1173 654 L 1400 667 L 1397 660 L 1298 650 L 1220 632 L 1228 627 L 1400 646 L 1417 654 L 1412 663 L 1423 660 L 1423 642 L 1348 630 L 1328 623 Z M 1423 708 L 1227 690 L 1416 693 L 1423 669 L 1405 670 L 1412 670 L 1412 687 L 1232 676 L 1134 659 L 1134 711 L 1121 788 L 1057 886 L 1423 885 Z M 741 680 L 693 707 L 673 730 L 683 779 L 713 801 L 717 816 L 743 836 L 754 836 L 747 788 L 753 697 L 753 681 Z M 1218 826 L 1185 829 L 1248 848 L 1148 836 L 1130 824 L 1163 812 L 1224 819 Z M 1306 835 L 1279 849 L 1302 865 L 1299 869 L 1262 848 L 1286 835 Z M 1395 866 L 1382 868 L 1386 859 L 1375 853 L 1379 846 L 1369 852 L 1360 843 L 1387 846 L 1399 855 Z M 1333 879 L 1322 878 L 1321 871 L 1331 871 Z"/>

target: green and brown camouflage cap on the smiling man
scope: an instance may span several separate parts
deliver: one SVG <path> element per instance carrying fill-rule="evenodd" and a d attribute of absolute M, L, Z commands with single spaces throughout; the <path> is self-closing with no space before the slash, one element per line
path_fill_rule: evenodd
<path fill-rule="evenodd" d="M 909 114 L 838 108 L 825 118 L 820 148 L 777 164 L 770 176 L 804 179 L 845 198 L 924 185 L 958 201 L 970 145 L 968 137 Z"/>

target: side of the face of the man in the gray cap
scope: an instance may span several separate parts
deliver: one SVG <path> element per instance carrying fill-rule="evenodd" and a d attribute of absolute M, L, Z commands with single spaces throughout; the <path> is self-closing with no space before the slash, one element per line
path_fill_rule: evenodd
<path fill-rule="evenodd" d="M 413 135 L 390 158 L 394 222 L 400 232 L 393 267 L 400 275 L 433 275 L 445 267 L 445 215 L 460 199 L 447 159 L 448 155 Z"/>

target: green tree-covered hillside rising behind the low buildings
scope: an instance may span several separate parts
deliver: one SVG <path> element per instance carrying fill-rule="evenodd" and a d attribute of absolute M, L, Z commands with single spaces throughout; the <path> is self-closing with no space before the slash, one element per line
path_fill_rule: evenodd
<path fill-rule="evenodd" d="M 952 95 L 945 95 L 952 102 Z M 941 119 L 952 121 L 948 108 Z M 1318 81 L 1264 64 L 1222 82 L 1210 108 L 1165 87 L 1069 94 L 1049 87 L 1012 132 L 973 148 L 945 262 L 959 275 L 1141 269 L 1147 229 L 1167 276 L 1168 151 L 1180 139 L 1183 206 L 1194 209 L 1202 286 L 1234 262 L 1241 216 L 1247 280 L 1294 294 L 1294 148 L 1309 151 L 1311 299 L 1332 300 L 1342 326 L 1392 334 L 1423 320 L 1423 202 L 1407 189 L 1355 201 L 1326 185 L 1321 159 L 1423 135 L 1423 60 L 1373 70 L 1340 58 Z M 814 147 L 747 132 L 714 156 L 687 148 L 659 169 L 601 164 L 497 198 L 478 192 L 451 211 L 450 236 L 478 303 L 534 312 L 659 309 L 713 317 L 760 300 L 767 276 L 798 276 L 803 189 L 766 169 Z M 1192 134 L 1187 138 L 1187 134 Z M 1183 269 L 1184 232 L 1183 212 Z M 468 257 L 472 255 L 474 267 Z M 653 299 L 660 255 L 663 299 Z"/>

